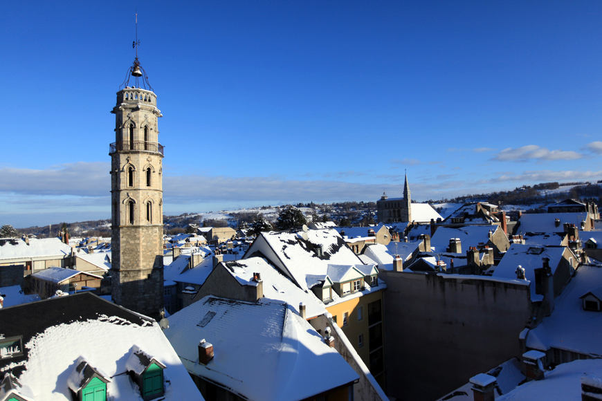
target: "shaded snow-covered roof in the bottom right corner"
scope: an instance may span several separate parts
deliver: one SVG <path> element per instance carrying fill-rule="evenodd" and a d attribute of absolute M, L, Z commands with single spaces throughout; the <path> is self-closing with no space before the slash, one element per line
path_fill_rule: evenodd
<path fill-rule="evenodd" d="M 602 377 L 602 360 L 576 360 L 546 371 L 542 380 L 522 384 L 497 401 L 581 401 L 581 377 Z"/>

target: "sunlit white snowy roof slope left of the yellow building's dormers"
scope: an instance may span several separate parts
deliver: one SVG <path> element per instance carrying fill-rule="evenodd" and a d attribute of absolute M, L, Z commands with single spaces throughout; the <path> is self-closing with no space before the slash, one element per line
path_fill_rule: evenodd
<path fill-rule="evenodd" d="M 303 302 L 308 319 L 326 313 L 326 308 L 313 295 L 313 292 L 305 292 L 295 286 L 289 277 L 278 272 L 263 258 L 252 257 L 235 263 L 224 263 L 224 265 L 226 265 L 226 271 L 244 286 L 257 285 L 253 281 L 253 273 L 260 273 L 264 282 L 264 298 L 284 301 L 295 308 L 298 308 L 299 304 Z M 325 279 L 322 277 L 322 281 Z"/>

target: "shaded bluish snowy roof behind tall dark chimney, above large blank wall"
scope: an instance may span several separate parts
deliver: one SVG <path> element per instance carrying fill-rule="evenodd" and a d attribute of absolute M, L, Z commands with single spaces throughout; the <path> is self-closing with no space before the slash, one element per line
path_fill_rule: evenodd
<path fill-rule="evenodd" d="M 542 268 L 542 258 L 549 259 L 552 274 L 560 263 L 565 252 L 564 247 L 531 247 L 513 243 L 493 271 L 493 277 L 516 279 L 516 268 L 521 265 L 525 269 L 525 279 L 531 282 L 531 301 L 541 301 L 542 295 L 535 293 L 535 269 Z"/>

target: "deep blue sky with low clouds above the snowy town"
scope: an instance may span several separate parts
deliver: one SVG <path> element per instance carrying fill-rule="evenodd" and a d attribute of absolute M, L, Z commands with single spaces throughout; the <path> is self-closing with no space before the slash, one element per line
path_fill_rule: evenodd
<path fill-rule="evenodd" d="M 110 217 L 136 7 L 165 214 L 602 179 L 601 1 L 11 1 L 0 225 Z"/>

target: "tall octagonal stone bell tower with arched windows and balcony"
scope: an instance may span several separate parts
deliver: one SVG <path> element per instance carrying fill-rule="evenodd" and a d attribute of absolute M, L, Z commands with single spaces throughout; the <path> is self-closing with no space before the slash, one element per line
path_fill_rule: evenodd
<path fill-rule="evenodd" d="M 130 78 L 134 86 L 127 86 Z M 112 297 L 156 317 L 163 308 L 163 146 L 157 126 L 162 115 L 137 54 L 122 86 L 111 111 L 115 142 L 109 147 Z"/>

